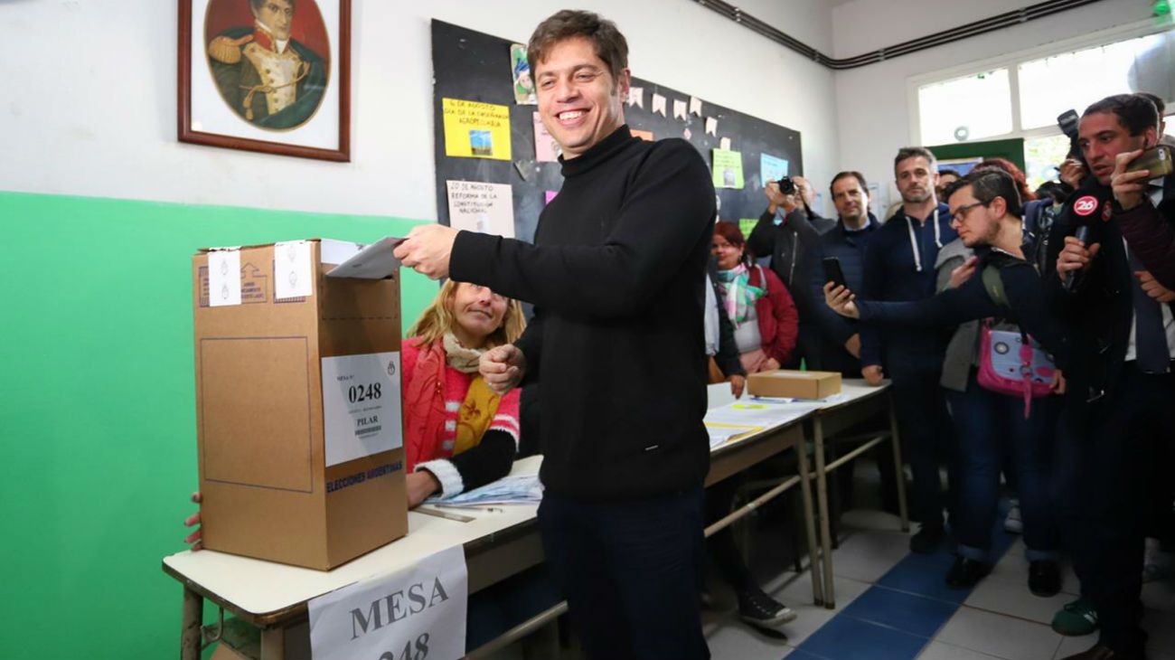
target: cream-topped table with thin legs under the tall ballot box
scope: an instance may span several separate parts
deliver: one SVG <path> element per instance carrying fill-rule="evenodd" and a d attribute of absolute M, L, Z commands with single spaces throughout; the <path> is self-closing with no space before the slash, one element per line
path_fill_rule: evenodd
<path fill-rule="evenodd" d="M 716 405 L 730 398 L 728 385 L 711 386 Z M 727 443 L 712 452 L 706 485 L 761 463 L 788 449 L 799 450 L 804 444 L 803 422 L 813 410 L 797 408 L 779 424 Z M 818 579 L 815 532 L 811 476 L 803 451 L 797 451 L 800 474 L 779 485 L 753 501 L 731 512 L 706 528 L 712 534 L 747 516 L 785 490 L 800 486 L 804 499 L 805 531 L 813 573 L 812 590 L 815 602 L 821 601 L 822 584 Z M 518 460 L 512 474 L 535 473 L 542 457 Z M 402 539 L 375 550 L 333 571 L 315 571 L 260 559 L 203 550 L 184 551 L 163 559 L 163 572 L 183 585 L 183 621 L 181 653 L 183 660 L 200 658 L 203 641 L 203 601 L 216 604 L 261 632 L 262 660 L 309 656 L 309 626 L 307 602 L 324 593 L 360 580 L 391 573 L 415 564 L 441 550 L 462 545 L 469 568 L 470 593 L 515 575 L 543 560 L 538 538 L 536 505 L 511 505 L 505 512 L 461 511 L 472 521 L 456 521 L 417 511 L 408 516 L 409 533 Z M 524 621 L 504 635 L 476 649 L 470 658 L 486 655 L 542 628 L 566 611 L 565 604 Z M 223 629 L 223 628 L 222 628 Z"/>

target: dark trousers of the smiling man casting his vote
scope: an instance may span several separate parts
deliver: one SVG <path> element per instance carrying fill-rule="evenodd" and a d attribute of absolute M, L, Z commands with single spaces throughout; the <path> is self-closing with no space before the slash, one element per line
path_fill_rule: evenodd
<path fill-rule="evenodd" d="M 610 501 L 543 496 L 543 550 L 589 658 L 710 658 L 698 598 L 704 501 L 700 486 Z"/>

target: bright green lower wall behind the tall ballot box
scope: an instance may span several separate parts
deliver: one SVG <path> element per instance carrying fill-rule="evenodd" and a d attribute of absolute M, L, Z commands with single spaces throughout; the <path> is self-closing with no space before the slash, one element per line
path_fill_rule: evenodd
<path fill-rule="evenodd" d="M 196 486 L 192 254 L 415 224 L 0 193 L 0 658 L 177 656 L 160 565 Z M 405 324 L 435 292 L 405 272 Z"/>

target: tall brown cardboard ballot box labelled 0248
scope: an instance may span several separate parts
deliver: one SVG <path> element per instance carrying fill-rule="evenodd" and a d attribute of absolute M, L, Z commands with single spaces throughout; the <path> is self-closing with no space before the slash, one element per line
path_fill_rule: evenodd
<path fill-rule="evenodd" d="M 408 532 L 398 275 L 325 275 L 361 247 L 193 257 L 204 547 L 328 570 Z"/>

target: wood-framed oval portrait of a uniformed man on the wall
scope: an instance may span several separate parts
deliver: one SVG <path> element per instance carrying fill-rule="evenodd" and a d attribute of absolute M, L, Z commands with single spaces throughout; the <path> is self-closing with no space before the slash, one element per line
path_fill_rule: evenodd
<path fill-rule="evenodd" d="M 350 0 L 180 0 L 180 141 L 350 161 Z"/>

